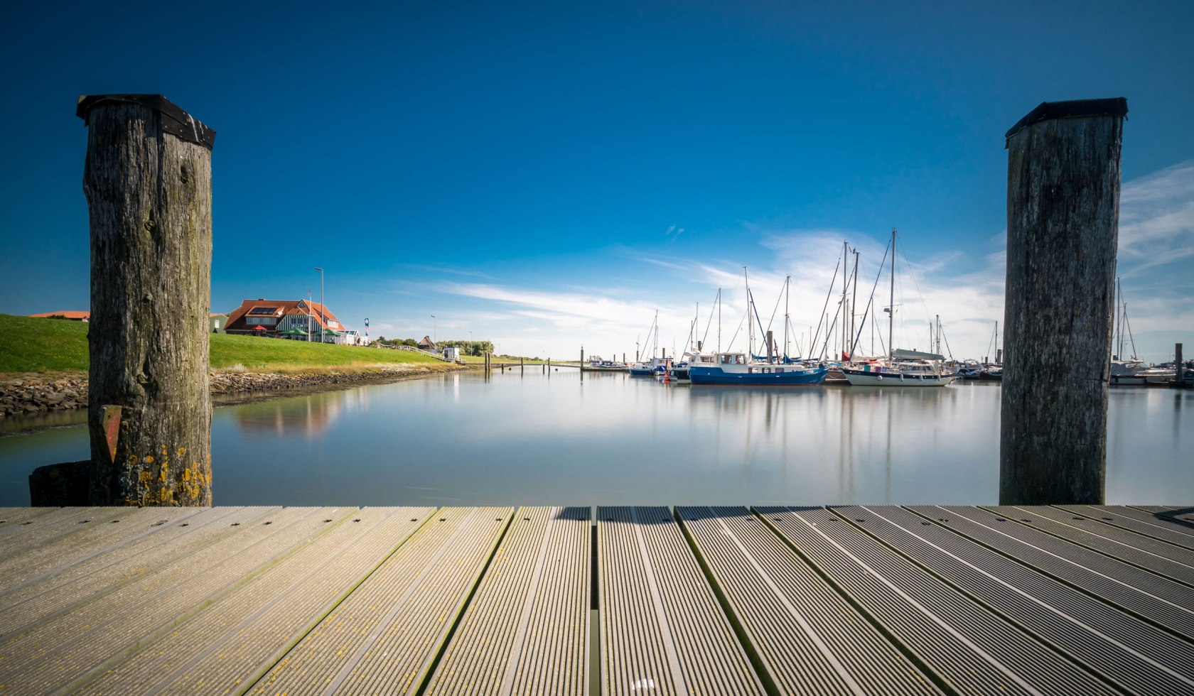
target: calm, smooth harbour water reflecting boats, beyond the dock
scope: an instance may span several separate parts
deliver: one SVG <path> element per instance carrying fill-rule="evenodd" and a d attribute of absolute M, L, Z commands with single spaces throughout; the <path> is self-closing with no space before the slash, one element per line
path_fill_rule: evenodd
<path fill-rule="evenodd" d="M 995 504 L 999 392 L 663 384 L 538 367 L 220 406 L 217 505 Z M 62 417 L 60 417 L 62 418 Z M 66 417 L 67 421 L 82 414 Z M 11 430 L 13 424 L 5 424 Z M 1194 393 L 1112 389 L 1107 501 L 1189 504 Z M 0 505 L 87 457 L 0 437 Z"/>

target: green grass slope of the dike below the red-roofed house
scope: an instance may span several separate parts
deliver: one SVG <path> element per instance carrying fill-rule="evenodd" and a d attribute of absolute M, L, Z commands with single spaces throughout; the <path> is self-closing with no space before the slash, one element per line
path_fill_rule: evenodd
<path fill-rule="evenodd" d="M 91 325 L 61 319 L 0 314 L 0 374 L 86 372 Z M 449 363 L 411 351 L 211 334 L 211 369 L 250 372 L 368 371 L 418 363 L 442 369 Z"/>

